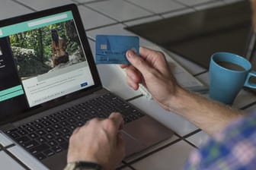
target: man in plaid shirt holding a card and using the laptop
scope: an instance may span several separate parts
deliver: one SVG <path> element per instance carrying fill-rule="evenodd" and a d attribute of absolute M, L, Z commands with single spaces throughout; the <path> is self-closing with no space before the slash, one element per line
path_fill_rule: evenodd
<path fill-rule="evenodd" d="M 126 58 L 131 65 L 121 65 L 126 68 L 129 86 L 138 90 L 142 83 L 162 108 L 187 118 L 213 136 L 199 152 L 192 153 L 186 169 L 256 167 L 256 115 L 244 117 L 241 111 L 184 90 L 171 74 L 162 52 L 140 47 L 139 53 L 136 56 L 128 51 Z M 231 122 L 235 123 L 226 128 Z M 114 169 L 124 156 L 119 134 L 122 126 L 121 115 L 113 113 L 76 129 L 70 138 L 67 169 L 75 169 L 75 164 L 81 167 L 76 169 Z"/>

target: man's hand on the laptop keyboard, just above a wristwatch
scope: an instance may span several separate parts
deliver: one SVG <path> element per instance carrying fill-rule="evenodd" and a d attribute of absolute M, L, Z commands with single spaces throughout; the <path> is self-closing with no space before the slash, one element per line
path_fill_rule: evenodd
<path fill-rule="evenodd" d="M 69 139 L 68 162 L 88 161 L 106 170 L 116 168 L 125 153 L 122 128 L 122 115 L 112 113 L 109 118 L 94 118 L 75 129 Z"/>

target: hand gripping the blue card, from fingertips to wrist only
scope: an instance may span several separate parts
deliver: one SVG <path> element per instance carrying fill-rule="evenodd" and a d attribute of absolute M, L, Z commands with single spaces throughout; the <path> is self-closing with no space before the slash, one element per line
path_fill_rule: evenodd
<path fill-rule="evenodd" d="M 168 62 L 162 52 L 156 52 L 145 47 L 139 48 L 139 55 L 129 50 L 126 58 L 131 65 L 121 65 L 126 68 L 126 80 L 134 90 L 142 83 L 163 108 L 168 109 L 171 97 L 175 95 L 178 86 Z"/>

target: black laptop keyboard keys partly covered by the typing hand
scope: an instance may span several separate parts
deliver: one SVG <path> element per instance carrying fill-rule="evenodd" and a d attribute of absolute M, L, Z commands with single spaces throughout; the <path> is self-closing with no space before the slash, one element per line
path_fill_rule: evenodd
<path fill-rule="evenodd" d="M 129 103 L 107 93 L 5 133 L 37 159 L 42 160 L 67 150 L 69 137 L 75 128 L 82 126 L 91 118 L 107 118 L 111 112 L 120 112 L 125 123 L 144 116 Z"/>

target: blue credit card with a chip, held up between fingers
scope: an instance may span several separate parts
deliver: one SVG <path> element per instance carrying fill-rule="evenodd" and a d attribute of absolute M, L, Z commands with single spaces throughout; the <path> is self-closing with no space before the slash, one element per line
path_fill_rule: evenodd
<path fill-rule="evenodd" d="M 126 51 L 132 49 L 139 55 L 138 36 L 96 36 L 96 64 L 130 64 Z"/>

